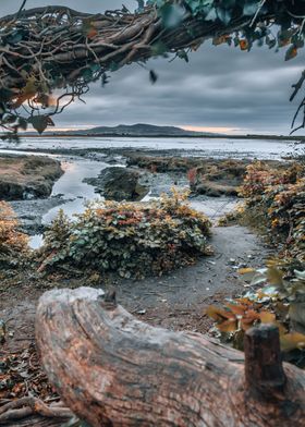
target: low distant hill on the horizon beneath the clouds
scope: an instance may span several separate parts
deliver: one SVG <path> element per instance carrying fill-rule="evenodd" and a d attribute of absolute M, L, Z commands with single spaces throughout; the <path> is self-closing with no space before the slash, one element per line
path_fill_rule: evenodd
<path fill-rule="evenodd" d="M 70 135 L 118 135 L 118 136 L 199 136 L 215 135 L 208 132 L 185 131 L 175 126 L 156 126 L 154 124 L 119 124 L 118 126 L 97 126 L 93 129 L 69 131 Z"/>

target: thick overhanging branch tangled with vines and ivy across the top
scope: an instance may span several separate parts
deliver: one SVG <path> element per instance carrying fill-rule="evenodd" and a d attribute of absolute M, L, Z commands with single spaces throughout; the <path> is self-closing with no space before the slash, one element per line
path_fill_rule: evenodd
<path fill-rule="evenodd" d="M 0 19 L 1 124 L 13 123 L 13 129 L 17 129 L 19 108 L 24 102 L 36 113 L 53 114 L 49 97 L 54 89 L 77 97 L 90 82 L 106 82 L 108 72 L 154 56 L 174 53 L 185 58 L 185 49 L 197 49 L 208 38 L 213 38 L 215 45 L 234 42 L 242 50 L 249 50 L 258 39 L 266 38 L 267 42 L 267 37 L 269 47 L 274 46 L 268 26 L 279 24 L 276 7 L 265 14 L 259 10 L 257 15 L 254 25 L 254 16 L 236 9 L 230 22 L 224 23 L 219 19 L 206 21 L 186 8 L 174 27 L 164 25 L 155 7 L 141 13 L 117 10 L 94 15 L 50 5 L 4 16 Z M 301 19 L 291 20 L 290 33 L 281 39 L 283 45 L 297 37 L 302 26 Z M 296 54 L 296 50 L 290 54 Z M 33 100 L 38 100 L 36 109 L 32 108 Z M 57 111 L 61 110 L 57 105 Z"/>

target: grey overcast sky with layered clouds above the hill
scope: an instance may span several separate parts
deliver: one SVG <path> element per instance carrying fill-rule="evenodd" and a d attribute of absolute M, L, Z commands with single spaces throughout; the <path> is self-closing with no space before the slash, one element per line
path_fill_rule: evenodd
<path fill-rule="evenodd" d="M 64 4 L 95 13 L 120 8 L 122 2 L 131 10 L 137 4 L 132 0 L 27 0 L 26 8 Z M 21 3 L 0 0 L 0 14 L 15 12 Z M 304 69 L 304 51 L 284 62 L 284 50 L 276 53 L 254 48 L 247 53 L 206 42 L 190 56 L 188 63 L 150 60 L 148 69 L 159 76 L 155 85 L 139 65 L 124 66 L 111 75 L 105 88 L 93 85 L 86 105 L 75 102 L 56 118 L 56 124 L 71 127 L 142 122 L 288 134 L 298 100 L 290 103 L 289 96 Z"/>

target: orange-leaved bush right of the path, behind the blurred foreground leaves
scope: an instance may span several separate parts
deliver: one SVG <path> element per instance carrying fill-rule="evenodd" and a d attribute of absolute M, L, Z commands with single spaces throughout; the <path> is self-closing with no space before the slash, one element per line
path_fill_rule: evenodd
<path fill-rule="evenodd" d="M 302 164 L 285 171 L 264 162 L 247 167 L 242 188 L 246 213 L 255 212 L 271 240 L 284 244 L 282 256 L 305 263 L 305 173 Z"/>

